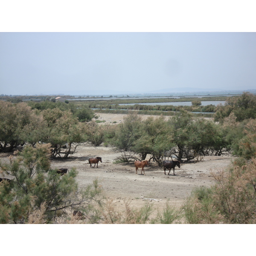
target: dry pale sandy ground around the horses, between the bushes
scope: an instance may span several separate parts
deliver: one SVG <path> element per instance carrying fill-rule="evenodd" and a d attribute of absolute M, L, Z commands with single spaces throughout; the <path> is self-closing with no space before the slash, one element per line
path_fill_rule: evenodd
<path fill-rule="evenodd" d="M 105 120 L 104 124 L 110 125 L 123 122 L 125 116 L 102 113 L 98 115 L 99 120 Z M 142 116 L 143 119 L 147 117 Z M 112 148 L 84 144 L 79 145 L 76 151 L 77 153 L 69 160 L 52 161 L 52 168 L 75 167 L 79 172 L 77 181 L 80 186 L 86 186 L 98 178 L 106 197 L 113 199 L 118 210 L 124 209 L 124 200 L 128 199 L 131 200 L 132 207 L 143 206 L 145 201 L 141 197 L 156 199 L 157 201 L 153 200 L 152 204 L 159 209 L 163 209 L 167 200 L 172 205 L 180 207 L 193 188 L 210 186 L 214 182 L 211 172 L 219 172 L 226 168 L 232 159 L 232 157 L 204 157 L 204 160 L 198 163 L 181 164 L 180 169 L 176 166 L 175 176 L 173 171 L 170 175 L 167 175 L 168 172 L 164 175 L 162 168 L 156 163 L 150 163 L 144 168 L 145 175 L 140 175 L 141 169 L 136 175 L 133 163 L 113 163 L 121 153 L 113 151 Z M 90 168 L 88 163 L 90 157 L 102 157 L 102 163 L 99 162 L 98 168 L 96 166 Z M 146 159 L 149 159 L 149 156 Z"/>

